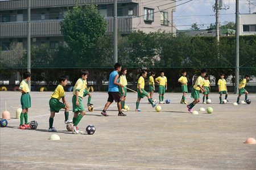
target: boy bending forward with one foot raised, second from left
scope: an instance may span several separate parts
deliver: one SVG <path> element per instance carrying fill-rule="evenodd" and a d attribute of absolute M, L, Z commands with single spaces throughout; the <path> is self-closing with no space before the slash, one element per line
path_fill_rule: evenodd
<path fill-rule="evenodd" d="M 68 76 L 66 75 L 61 75 L 59 77 L 59 85 L 55 88 L 55 91 L 51 95 L 51 99 L 49 100 L 49 108 L 51 111 L 51 116 L 49 117 L 49 129 L 48 131 L 57 131 L 53 125 L 53 118 L 55 116 L 55 113 L 59 113 L 60 109 L 63 108 L 65 109 L 64 115 L 65 115 L 65 124 L 72 123 L 72 120 L 68 120 L 68 115 L 69 115 L 69 107 L 68 103 L 65 100 L 65 91 L 64 88 L 68 83 Z M 62 99 L 61 103 L 59 100 Z"/>

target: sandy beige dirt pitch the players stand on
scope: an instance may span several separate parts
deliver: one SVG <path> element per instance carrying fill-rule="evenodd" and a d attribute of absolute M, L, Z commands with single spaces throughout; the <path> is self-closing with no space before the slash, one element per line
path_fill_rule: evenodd
<path fill-rule="evenodd" d="M 156 112 L 146 97 L 141 100 L 142 112 L 135 112 L 137 94 L 127 93 L 130 111 L 117 116 L 117 105 L 110 105 L 109 117 L 101 115 L 108 94 L 93 92 L 94 111 L 87 112 L 78 125 L 85 131 L 92 124 L 96 133 L 72 134 L 64 124 L 64 110 L 56 113 L 48 132 L 49 106 L 52 92 L 31 92 L 32 107 L 28 120 L 35 120 L 36 130 L 20 130 L 16 109 L 20 108 L 20 92 L 1 91 L 1 113 L 11 113 L 1 132 L 0 169 L 256 169 L 255 145 L 245 144 L 255 138 L 255 94 L 249 94 L 251 104 L 234 106 L 237 95 L 229 94 L 227 104 L 218 104 L 218 94 L 210 94 L 211 104 L 197 104 L 193 109 L 213 108 L 213 113 L 193 115 L 180 104 L 181 93 L 167 93 Z M 201 95 L 201 99 L 202 99 Z M 244 99 L 244 95 L 241 99 Z M 158 94 L 154 94 L 158 100 Z M 72 92 L 66 92 L 72 110 Z M 86 104 L 88 97 L 83 99 Z M 190 94 L 188 102 L 193 101 Z M 73 113 L 69 112 L 69 119 Z M 50 141 L 57 134 L 59 141 Z"/>

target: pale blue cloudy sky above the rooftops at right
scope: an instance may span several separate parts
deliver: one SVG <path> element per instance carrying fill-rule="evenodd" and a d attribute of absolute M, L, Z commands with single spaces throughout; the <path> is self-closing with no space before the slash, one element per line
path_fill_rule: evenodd
<path fill-rule="evenodd" d="M 200 29 L 207 29 L 209 25 L 215 24 L 216 12 L 213 11 L 215 0 L 176 0 L 176 5 L 183 5 L 176 7 L 174 12 L 174 23 L 176 28 L 180 30 L 190 29 L 193 23 L 197 23 Z M 220 10 L 220 24 L 224 25 L 226 22 L 236 22 L 236 0 L 223 0 L 224 5 L 229 6 L 227 10 Z M 249 14 L 256 12 L 256 0 L 240 0 L 239 10 L 240 14 Z"/>

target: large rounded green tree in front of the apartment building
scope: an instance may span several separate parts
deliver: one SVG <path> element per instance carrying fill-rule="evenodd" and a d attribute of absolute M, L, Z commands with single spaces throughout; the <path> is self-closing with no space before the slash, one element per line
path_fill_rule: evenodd
<path fill-rule="evenodd" d="M 61 21 L 61 33 L 73 53 L 73 59 L 91 63 L 97 41 L 106 32 L 106 21 L 95 5 L 76 5 Z M 81 63 L 80 62 L 80 63 Z M 79 63 L 79 62 L 77 62 Z"/>

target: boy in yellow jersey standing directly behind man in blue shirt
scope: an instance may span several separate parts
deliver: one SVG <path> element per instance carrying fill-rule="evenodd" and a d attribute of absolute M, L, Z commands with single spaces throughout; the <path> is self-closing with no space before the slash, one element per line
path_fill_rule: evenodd
<path fill-rule="evenodd" d="M 121 111 L 127 112 L 127 110 L 123 107 L 125 107 L 125 100 L 126 100 L 126 94 L 127 94 L 127 79 L 126 79 L 126 73 L 127 69 L 123 67 L 120 71 L 119 75 L 119 83 L 123 84 L 123 87 L 119 86 L 119 94 L 121 95 Z"/>

